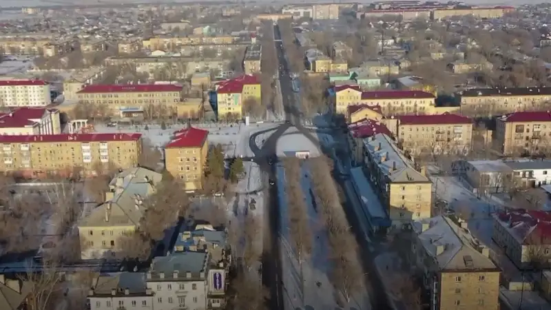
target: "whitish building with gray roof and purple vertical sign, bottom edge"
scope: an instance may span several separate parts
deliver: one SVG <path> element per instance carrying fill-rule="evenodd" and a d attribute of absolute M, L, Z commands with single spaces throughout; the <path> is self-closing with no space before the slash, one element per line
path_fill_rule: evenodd
<path fill-rule="evenodd" d="M 209 252 L 183 251 L 154 258 L 147 287 L 154 293 L 155 310 L 222 307 L 225 269 L 211 268 Z M 214 293 L 214 294 L 213 294 Z"/>

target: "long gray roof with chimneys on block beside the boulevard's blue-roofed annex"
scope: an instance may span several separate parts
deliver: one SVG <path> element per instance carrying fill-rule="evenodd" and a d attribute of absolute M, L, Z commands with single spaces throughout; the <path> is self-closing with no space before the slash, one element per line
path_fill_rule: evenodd
<path fill-rule="evenodd" d="M 430 182 L 426 176 L 414 169 L 413 163 L 402 154 L 391 137 L 386 134 L 375 134 L 370 138 L 364 138 L 364 146 L 377 163 L 380 173 L 388 176 L 391 182 Z"/>

